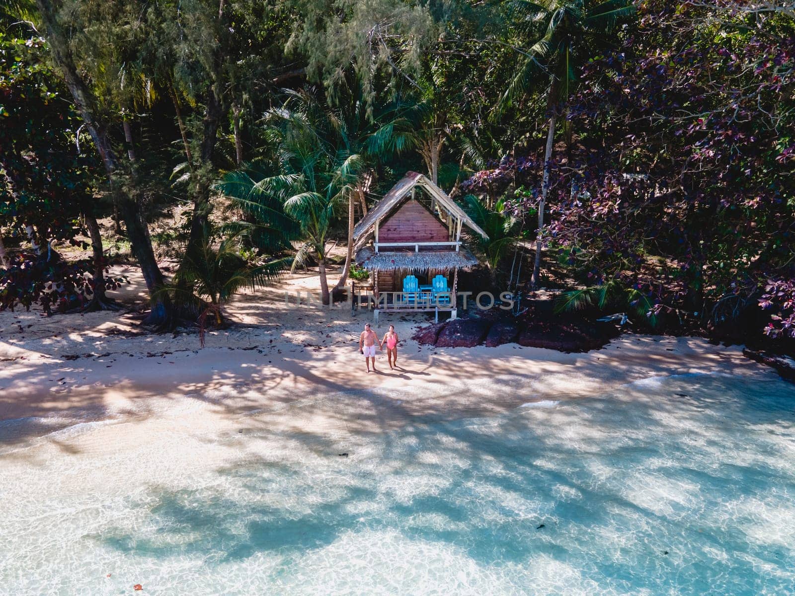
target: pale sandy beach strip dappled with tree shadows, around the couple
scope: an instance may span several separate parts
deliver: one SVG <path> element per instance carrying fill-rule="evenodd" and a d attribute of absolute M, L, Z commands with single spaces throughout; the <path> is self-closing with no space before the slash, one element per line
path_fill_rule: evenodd
<path fill-rule="evenodd" d="M 136 271 L 118 273 L 131 282 L 122 300 L 140 302 L 144 292 Z M 420 314 L 382 318 L 378 335 L 394 324 L 401 338 L 401 368 L 389 370 L 382 352 L 378 373 L 368 374 L 358 338 L 371 313 L 351 315 L 347 304 L 333 310 L 296 306 L 296 292 L 313 290 L 314 283 L 312 273 L 297 273 L 255 295 L 238 296 L 227 308 L 235 324 L 208 332 L 204 348 L 196 332 L 153 335 L 129 313 L 0 313 L 4 440 L 99 420 L 124 421 L 132 432 L 168 416 L 219 430 L 237 430 L 246 416 L 246 424 L 256 420 L 285 431 L 380 432 L 417 416 L 502 412 L 527 401 L 603 393 L 645 377 L 771 374 L 744 358 L 739 346 L 698 338 L 622 335 L 588 354 L 516 344 L 419 346 L 410 336 L 430 320 Z M 296 404 L 298 416 L 289 408 Z M 14 429 L 9 420 L 24 422 Z"/>

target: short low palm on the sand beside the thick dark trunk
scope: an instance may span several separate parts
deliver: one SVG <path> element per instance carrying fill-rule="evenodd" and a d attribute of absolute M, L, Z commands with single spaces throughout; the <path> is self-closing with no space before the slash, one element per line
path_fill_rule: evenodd
<path fill-rule="evenodd" d="M 238 235 L 215 242 L 213 231 L 204 228 L 204 237 L 197 250 L 186 250 L 172 283 L 165 292 L 175 304 L 200 312 L 200 341 L 204 346 L 207 316 L 213 315 L 217 325 L 223 324 L 222 306 L 242 289 L 255 289 L 270 284 L 289 266 L 289 258 L 253 265 L 240 255 Z"/>

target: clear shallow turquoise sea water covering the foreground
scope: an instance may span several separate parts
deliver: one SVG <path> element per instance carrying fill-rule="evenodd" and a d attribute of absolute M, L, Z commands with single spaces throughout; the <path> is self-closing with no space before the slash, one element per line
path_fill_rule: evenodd
<path fill-rule="evenodd" d="M 783 381 L 653 378 L 342 442 L 245 440 L 273 447 L 0 510 L 0 594 L 795 594 Z"/>

